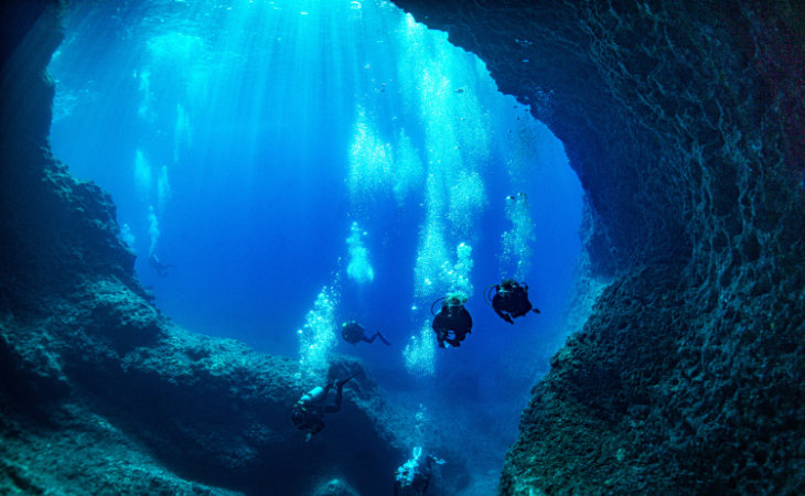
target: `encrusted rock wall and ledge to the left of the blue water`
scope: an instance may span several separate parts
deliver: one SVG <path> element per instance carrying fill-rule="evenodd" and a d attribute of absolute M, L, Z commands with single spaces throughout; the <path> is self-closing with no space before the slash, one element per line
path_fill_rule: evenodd
<path fill-rule="evenodd" d="M 386 493 L 408 446 L 368 374 L 305 443 L 289 420 L 296 362 L 150 303 L 108 194 L 50 153 L 58 3 L 0 9 L 0 493 Z M 361 367 L 336 358 L 331 374 Z"/>

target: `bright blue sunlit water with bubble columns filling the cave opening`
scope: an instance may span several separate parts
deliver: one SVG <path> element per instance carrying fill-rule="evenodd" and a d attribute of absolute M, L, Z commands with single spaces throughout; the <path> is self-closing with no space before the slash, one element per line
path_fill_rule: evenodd
<path fill-rule="evenodd" d="M 387 2 L 77 3 L 50 65 L 52 147 L 111 193 L 159 309 L 308 362 L 319 339 L 364 359 L 389 401 L 500 422 L 468 421 L 495 478 L 567 332 L 581 188 L 561 143 Z M 500 320 L 483 290 L 502 276 L 543 313 Z M 449 290 L 475 325 L 436 349 L 429 308 Z M 340 342 L 350 319 L 393 346 Z"/>

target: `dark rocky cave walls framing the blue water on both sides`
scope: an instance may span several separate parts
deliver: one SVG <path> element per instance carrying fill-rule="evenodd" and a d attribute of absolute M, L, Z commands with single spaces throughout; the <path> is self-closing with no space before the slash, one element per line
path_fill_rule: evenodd
<path fill-rule="evenodd" d="M 535 386 L 500 493 L 805 493 L 804 7 L 395 3 L 562 140 L 593 274 L 612 281 Z M 154 310 L 109 196 L 50 153 L 60 2 L 0 9 L 0 488 L 260 494 L 292 478 L 275 451 L 299 440 L 270 425 L 294 364 Z M 362 400 L 373 388 L 343 416 L 366 446 L 293 452 L 323 481 L 333 463 L 378 475 L 362 494 L 388 490 L 405 456 Z"/>

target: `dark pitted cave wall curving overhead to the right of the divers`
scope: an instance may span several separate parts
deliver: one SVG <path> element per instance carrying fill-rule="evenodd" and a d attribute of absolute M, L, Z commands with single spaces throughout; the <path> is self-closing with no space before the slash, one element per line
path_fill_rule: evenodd
<path fill-rule="evenodd" d="M 395 3 L 562 140 L 613 281 L 501 493 L 805 492 L 804 4 Z"/>

